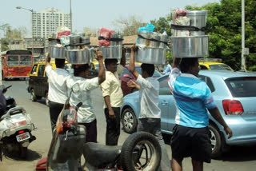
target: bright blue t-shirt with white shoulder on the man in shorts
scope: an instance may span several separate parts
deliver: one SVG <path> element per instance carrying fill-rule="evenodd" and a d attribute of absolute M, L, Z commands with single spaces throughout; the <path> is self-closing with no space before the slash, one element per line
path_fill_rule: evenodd
<path fill-rule="evenodd" d="M 176 124 L 192 128 L 208 126 L 207 109 L 214 109 L 216 105 L 206 82 L 174 68 L 168 83 L 176 102 Z"/>

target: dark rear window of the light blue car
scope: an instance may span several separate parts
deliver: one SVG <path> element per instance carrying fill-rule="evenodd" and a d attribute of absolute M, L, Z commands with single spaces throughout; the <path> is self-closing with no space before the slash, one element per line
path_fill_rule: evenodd
<path fill-rule="evenodd" d="M 256 77 L 226 79 L 233 97 L 256 97 Z"/>

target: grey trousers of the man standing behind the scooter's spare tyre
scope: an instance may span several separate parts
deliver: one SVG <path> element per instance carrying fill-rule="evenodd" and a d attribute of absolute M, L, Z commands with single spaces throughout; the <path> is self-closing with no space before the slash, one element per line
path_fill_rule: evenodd
<path fill-rule="evenodd" d="M 158 139 L 158 142 L 161 146 L 162 159 L 160 168 L 161 171 L 170 171 L 170 158 L 168 157 L 166 144 L 162 139 L 161 133 L 161 119 L 160 118 L 140 118 L 138 120 L 138 129 L 137 131 L 145 131 L 152 133 L 154 137 Z"/>

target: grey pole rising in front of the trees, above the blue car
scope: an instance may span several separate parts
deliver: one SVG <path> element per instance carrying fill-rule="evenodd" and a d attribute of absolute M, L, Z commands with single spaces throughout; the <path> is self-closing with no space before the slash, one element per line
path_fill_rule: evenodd
<path fill-rule="evenodd" d="M 241 70 L 246 71 L 246 57 L 245 57 L 245 0 L 242 0 L 242 53 L 241 53 Z"/>

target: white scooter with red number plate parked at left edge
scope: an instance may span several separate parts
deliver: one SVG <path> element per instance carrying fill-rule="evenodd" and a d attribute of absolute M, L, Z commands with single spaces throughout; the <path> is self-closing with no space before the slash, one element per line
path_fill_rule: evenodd
<path fill-rule="evenodd" d="M 2 89 L 2 93 L 6 93 L 8 86 Z M 31 121 L 30 114 L 26 113 L 26 109 L 16 106 L 14 97 L 6 97 L 6 113 L 0 117 L 0 159 L 2 161 L 2 153 L 4 155 L 18 155 L 26 158 L 27 147 L 36 137 L 32 135 L 34 124 Z"/>

